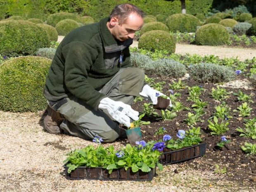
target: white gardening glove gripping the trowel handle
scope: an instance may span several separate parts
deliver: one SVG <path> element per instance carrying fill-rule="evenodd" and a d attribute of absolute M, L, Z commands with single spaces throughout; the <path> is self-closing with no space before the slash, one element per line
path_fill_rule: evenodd
<path fill-rule="evenodd" d="M 130 105 L 121 101 L 111 100 L 109 97 L 105 97 L 100 101 L 99 109 L 107 109 L 113 119 L 126 127 L 130 127 L 130 118 L 135 121 L 139 119 L 139 112 L 133 110 Z"/>

